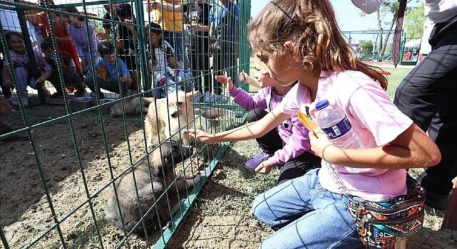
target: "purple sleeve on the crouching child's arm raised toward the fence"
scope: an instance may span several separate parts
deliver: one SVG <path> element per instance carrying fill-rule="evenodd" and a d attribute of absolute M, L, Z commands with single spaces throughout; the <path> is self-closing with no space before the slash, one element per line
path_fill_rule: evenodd
<path fill-rule="evenodd" d="M 250 111 L 254 108 L 267 109 L 267 100 L 265 99 L 265 88 L 257 92 L 255 95 L 250 95 L 241 88 L 233 87 L 230 91 L 230 96 L 234 97 L 234 102 L 240 105 L 243 109 Z"/>

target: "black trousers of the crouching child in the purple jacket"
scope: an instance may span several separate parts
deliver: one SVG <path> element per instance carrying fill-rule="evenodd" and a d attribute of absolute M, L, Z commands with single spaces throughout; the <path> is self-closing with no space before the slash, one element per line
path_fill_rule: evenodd
<path fill-rule="evenodd" d="M 261 120 L 262 117 L 267 115 L 267 113 L 268 112 L 266 110 L 255 108 L 247 115 L 247 122 Z M 257 138 L 256 140 L 259 143 L 260 149 L 263 149 L 268 154 L 274 154 L 274 152 L 284 147 L 284 142 L 281 137 L 279 137 L 277 128 L 272 129 L 267 134 Z M 320 157 L 317 157 L 309 152 L 304 152 L 299 157 L 286 161 L 284 165 L 279 165 L 281 171 L 279 172 L 278 185 L 282 184 L 284 181 L 289 181 L 290 179 L 303 176 L 307 173 L 307 171 L 317 169 L 320 166 Z"/>

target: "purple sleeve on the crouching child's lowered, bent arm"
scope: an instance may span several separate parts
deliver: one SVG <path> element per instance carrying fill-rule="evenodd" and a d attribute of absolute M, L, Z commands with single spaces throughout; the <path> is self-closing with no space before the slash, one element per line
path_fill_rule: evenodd
<path fill-rule="evenodd" d="M 292 116 L 290 119 L 293 124 L 292 136 L 282 149 L 274 152 L 274 156 L 268 159 L 269 164 L 272 166 L 283 165 L 287 161 L 290 161 L 295 157 L 299 157 L 306 151 L 311 152 L 308 129 L 305 128 L 301 122 L 299 122 L 297 116 Z"/>

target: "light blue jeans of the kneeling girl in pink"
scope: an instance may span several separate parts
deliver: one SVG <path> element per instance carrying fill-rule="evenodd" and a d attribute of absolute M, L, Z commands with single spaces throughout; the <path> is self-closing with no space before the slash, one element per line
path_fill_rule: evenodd
<path fill-rule="evenodd" d="M 255 198 L 255 217 L 279 228 L 260 248 L 362 248 L 343 195 L 322 188 L 318 174 L 313 169 Z"/>

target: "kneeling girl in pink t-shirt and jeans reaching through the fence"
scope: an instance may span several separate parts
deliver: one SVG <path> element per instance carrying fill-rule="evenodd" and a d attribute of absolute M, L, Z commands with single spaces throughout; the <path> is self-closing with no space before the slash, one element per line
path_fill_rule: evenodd
<path fill-rule="evenodd" d="M 437 164 L 441 154 L 436 144 L 391 103 L 384 92 L 386 79 L 356 58 L 329 1 L 270 1 L 250 22 L 249 32 L 252 49 L 270 75 L 282 85 L 299 83 L 258 122 L 217 134 L 196 130 L 191 135 L 207 143 L 251 139 L 298 110 L 312 112 L 319 100 L 337 105 L 363 149 L 341 149 L 322 130 L 309 132 L 312 151 L 323 159 L 322 169 L 265 191 L 252 209 L 260 221 L 279 229 L 261 248 L 361 247 L 339 186 L 362 201 L 404 194 L 405 169 Z"/>

